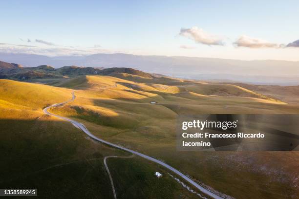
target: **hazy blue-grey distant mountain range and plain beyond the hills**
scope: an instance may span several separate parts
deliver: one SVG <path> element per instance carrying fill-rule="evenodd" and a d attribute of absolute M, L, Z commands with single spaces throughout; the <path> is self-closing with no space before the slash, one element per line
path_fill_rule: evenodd
<path fill-rule="evenodd" d="M 20 63 L 24 67 L 43 64 L 51 65 L 54 68 L 69 65 L 104 68 L 126 67 L 187 79 L 299 85 L 299 61 L 244 61 L 129 54 L 47 57 L 11 53 L 0 53 L 0 60 Z"/>

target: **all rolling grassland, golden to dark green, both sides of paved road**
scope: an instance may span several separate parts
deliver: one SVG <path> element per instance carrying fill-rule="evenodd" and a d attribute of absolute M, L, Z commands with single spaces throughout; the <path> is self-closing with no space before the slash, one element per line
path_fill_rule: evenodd
<path fill-rule="evenodd" d="M 298 114 L 298 105 L 232 84 L 117 74 L 59 79 L 50 81 L 52 86 L 0 80 L 0 150 L 6 162 L 1 187 L 38 187 L 49 198 L 112 197 L 103 158 L 128 154 L 42 113 L 75 90 L 76 100 L 50 112 L 74 118 L 96 136 L 161 159 L 232 197 L 296 196 L 299 153 L 178 152 L 175 122 L 178 114 Z M 168 175 L 156 182 L 151 173 L 167 171 L 146 160 L 109 159 L 108 165 L 119 198 L 194 198 Z M 68 196 L 70 191 L 74 194 Z"/>

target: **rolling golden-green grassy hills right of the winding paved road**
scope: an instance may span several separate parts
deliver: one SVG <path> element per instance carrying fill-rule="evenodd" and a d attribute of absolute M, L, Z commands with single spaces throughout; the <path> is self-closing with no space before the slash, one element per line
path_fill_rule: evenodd
<path fill-rule="evenodd" d="M 235 156 L 225 152 L 177 152 L 175 122 L 178 114 L 294 114 L 299 113 L 298 105 L 232 84 L 112 75 L 85 76 L 78 79 L 78 84 L 73 80 L 58 84 L 77 88 L 77 99 L 51 111 L 79 119 L 95 135 L 162 159 L 235 198 L 280 199 L 297 193 L 298 182 L 294 185 L 293 180 L 299 165 L 292 159 L 298 159 L 298 153 Z M 246 161 L 250 163 L 242 163 Z M 281 167 L 286 161 L 288 169 Z M 280 177 L 263 171 L 264 167 Z"/>

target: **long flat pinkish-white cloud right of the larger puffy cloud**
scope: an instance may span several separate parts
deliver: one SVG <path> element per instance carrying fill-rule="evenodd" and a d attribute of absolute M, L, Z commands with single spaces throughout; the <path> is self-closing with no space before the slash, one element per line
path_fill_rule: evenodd
<path fill-rule="evenodd" d="M 247 48 L 279 48 L 283 47 L 283 44 L 271 43 L 266 40 L 251 38 L 246 35 L 242 35 L 239 39 L 237 39 L 234 44 L 237 47 L 247 47 Z"/>

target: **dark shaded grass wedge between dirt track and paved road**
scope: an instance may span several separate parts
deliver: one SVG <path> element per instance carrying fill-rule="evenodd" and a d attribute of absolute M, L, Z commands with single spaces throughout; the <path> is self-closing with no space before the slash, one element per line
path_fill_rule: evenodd
<path fill-rule="evenodd" d="M 115 189 L 120 199 L 200 199 L 196 194 L 184 192 L 183 186 L 171 178 L 166 169 L 145 159 L 111 158 L 108 165 L 113 180 L 118 182 Z M 156 171 L 163 174 L 161 179 L 152 175 Z M 130 183 L 124 179 L 129 179 Z"/>

